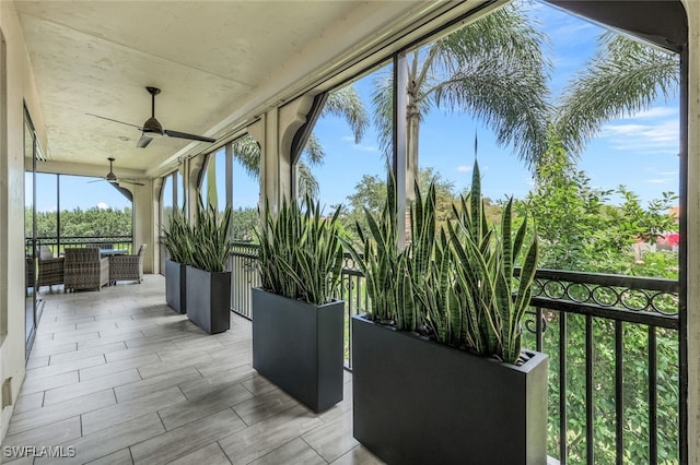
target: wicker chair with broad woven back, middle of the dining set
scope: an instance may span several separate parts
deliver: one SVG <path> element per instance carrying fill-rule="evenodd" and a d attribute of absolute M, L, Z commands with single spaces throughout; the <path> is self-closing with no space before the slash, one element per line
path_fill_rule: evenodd
<path fill-rule="evenodd" d="M 109 259 L 100 258 L 94 247 L 67 248 L 65 261 L 66 290 L 102 289 L 109 284 Z"/>

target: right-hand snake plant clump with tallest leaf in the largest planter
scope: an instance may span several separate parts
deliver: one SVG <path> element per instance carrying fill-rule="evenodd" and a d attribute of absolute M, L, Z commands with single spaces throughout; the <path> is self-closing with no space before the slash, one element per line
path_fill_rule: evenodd
<path fill-rule="evenodd" d="M 488 225 L 479 176 L 475 162 L 469 195 L 462 199 L 459 210 L 455 208 L 455 224 L 447 225 L 456 264 L 454 298 L 464 309 L 460 342 L 477 354 L 515 363 L 537 271 L 537 237 L 524 247 L 527 218 L 513 235 L 513 199 L 503 208 L 501 227 Z M 516 279 L 513 271 L 521 255 L 522 271 Z"/>

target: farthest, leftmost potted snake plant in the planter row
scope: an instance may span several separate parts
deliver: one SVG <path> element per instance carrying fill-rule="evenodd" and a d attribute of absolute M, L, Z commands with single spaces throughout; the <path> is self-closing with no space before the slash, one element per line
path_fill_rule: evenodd
<path fill-rule="evenodd" d="M 178 313 L 187 310 L 187 265 L 192 263 L 191 230 L 185 210 L 175 210 L 163 229 L 163 245 L 170 258 L 165 260 L 165 301 Z"/>

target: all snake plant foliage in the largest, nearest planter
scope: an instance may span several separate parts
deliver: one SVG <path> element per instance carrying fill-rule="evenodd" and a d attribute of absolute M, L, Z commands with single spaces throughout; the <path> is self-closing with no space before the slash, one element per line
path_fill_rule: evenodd
<path fill-rule="evenodd" d="M 515 363 L 522 320 L 537 267 L 536 238 L 525 248 L 527 219 L 513 235 L 512 200 L 501 226 L 489 225 L 478 163 L 471 190 L 453 206 L 454 219 L 436 227 L 435 188 L 423 196 L 415 187 L 410 208 L 412 240 L 397 248 L 394 183 L 375 218 L 365 211 L 370 234 L 358 226 L 362 253 L 350 248 L 365 274 L 375 321 L 397 330 L 428 331 L 438 342 Z M 515 263 L 523 257 L 520 279 Z"/>

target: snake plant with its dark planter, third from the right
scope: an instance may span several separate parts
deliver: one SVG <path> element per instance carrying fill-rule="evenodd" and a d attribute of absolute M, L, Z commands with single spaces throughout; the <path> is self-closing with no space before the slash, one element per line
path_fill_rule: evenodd
<path fill-rule="evenodd" d="M 199 208 L 191 227 L 192 263 L 187 265 L 187 318 L 209 334 L 231 325 L 231 205 L 219 213 L 213 204 Z"/>

